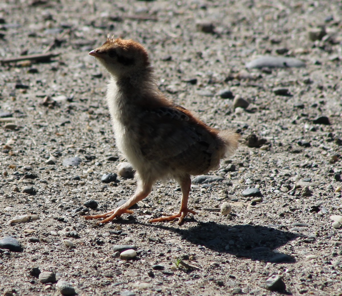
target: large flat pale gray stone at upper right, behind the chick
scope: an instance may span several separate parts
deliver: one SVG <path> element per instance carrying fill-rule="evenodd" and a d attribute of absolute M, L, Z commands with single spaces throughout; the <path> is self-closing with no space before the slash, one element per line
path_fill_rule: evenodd
<path fill-rule="evenodd" d="M 261 56 L 246 64 L 247 68 L 287 68 L 287 67 L 304 67 L 305 63 L 294 59 L 293 57 L 282 56 Z"/>

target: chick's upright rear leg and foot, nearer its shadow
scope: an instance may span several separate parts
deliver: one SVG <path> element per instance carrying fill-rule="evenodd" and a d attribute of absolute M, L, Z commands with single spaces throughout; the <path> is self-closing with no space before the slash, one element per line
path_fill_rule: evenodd
<path fill-rule="evenodd" d="M 182 204 L 181 209 L 179 210 L 178 214 L 167 216 L 167 217 L 160 217 L 156 219 L 149 220 L 150 223 L 153 222 L 161 222 L 161 221 L 172 221 L 176 218 L 179 218 L 178 224 L 181 225 L 184 221 L 184 218 L 188 213 L 196 214 L 195 211 L 188 209 L 188 197 L 191 187 L 191 179 L 190 175 L 186 175 L 182 179 L 180 179 L 180 185 L 182 190 Z"/>

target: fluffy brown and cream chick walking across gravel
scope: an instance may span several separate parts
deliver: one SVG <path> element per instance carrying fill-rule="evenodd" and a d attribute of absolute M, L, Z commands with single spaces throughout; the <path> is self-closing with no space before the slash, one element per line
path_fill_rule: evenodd
<path fill-rule="evenodd" d="M 149 222 L 184 222 L 188 213 L 191 177 L 220 166 L 220 159 L 238 146 L 239 134 L 209 127 L 193 112 L 177 105 L 158 89 L 158 78 L 145 47 L 132 39 L 107 35 L 89 52 L 110 75 L 106 101 L 119 152 L 135 169 L 137 188 L 123 205 L 86 219 L 107 223 L 143 200 L 158 180 L 176 180 L 181 187 L 180 211 Z"/>

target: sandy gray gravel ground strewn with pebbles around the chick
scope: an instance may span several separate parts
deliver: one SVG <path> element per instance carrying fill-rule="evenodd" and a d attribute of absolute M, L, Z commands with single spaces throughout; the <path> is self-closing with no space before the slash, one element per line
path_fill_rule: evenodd
<path fill-rule="evenodd" d="M 183 2 L 0 3 L 1 59 L 59 54 L 0 67 L 1 295 L 342 295 L 341 1 Z M 133 215 L 82 217 L 136 187 L 101 181 L 125 161 L 88 56 L 107 33 L 144 44 L 168 97 L 242 135 L 183 226 L 148 223 L 179 209 L 172 180 Z M 278 67 L 246 68 L 258 56 Z"/>

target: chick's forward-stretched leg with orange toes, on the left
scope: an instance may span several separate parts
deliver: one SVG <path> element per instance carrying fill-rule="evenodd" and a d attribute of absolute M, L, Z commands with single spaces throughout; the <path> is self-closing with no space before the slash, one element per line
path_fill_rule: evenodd
<path fill-rule="evenodd" d="M 96 224 L 100 224 L 100 223 L 107 223 L 109 221 L 112 221 L 115 217 L 119 217 L 123 213 L 132 214 L 133 211 L 129 210 L 129 208 L 131 206 L 135 205 L 137 202 L 143 200 L 151 192 L 151 189 L 152 189 L 152 183 L 141 184 L 140 182 L 138 182 L 138 187 L 137 187 L 134 195 L 126 203 L 124 203 L 122 206 L 117 207 L 116 209 L 111 210 L 105 214 L 90 215 L 90 216 L 85 216 L 84 218 L 86 218 L 86 219 L 103 218 L 103 220 L 96 223 Z"/>

